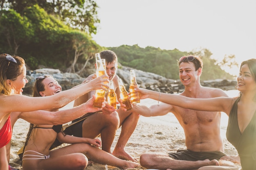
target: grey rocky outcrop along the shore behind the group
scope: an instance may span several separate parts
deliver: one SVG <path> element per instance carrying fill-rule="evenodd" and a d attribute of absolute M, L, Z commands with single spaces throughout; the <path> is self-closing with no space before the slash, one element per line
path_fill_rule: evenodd
<path fill-rule="evenodd" d="M 117 75 L 123 80 L 126 85 L 126 89 L 129 87 L 130 83 L 130 70 L 132 68 L 128 68 L 122 66 L 117 70 Z M 90 70 L 92 72 L 92 70 Z M 95 71 L 94 71 L 95 72 Z M 93 73 L 93 72 L 92 72 Z M 84 80 L 83 77 L 79 76 L 75 73 L 62 73 L 57 69 L 38 69 L 34 71 L 27 72 L 27 79 L 29 83 L 23 89 L 24 94 L 31 95 L 33 92 L 34 84 L 36 81 L 36 77 L 42 74 L 50 74 L 54 76 L 54 78 L 58 81 L 58 83 L 62 86 L 63 90 L 70 89 L 76 85 L 79 85 Z M 141 70 L 136 70 L 136 79 L 139 87 L 155 90 L 158 92 L 166 92 L 166 93 L 180 93 L 184 91 L 184 86 L 180 82 L 180 80 L 168 79 L 158 74 L 144 72 Z M 202 81 L 202 86 L 205 87 L 214 87 L 220 88 L 223 90 L 231 90 L 236 89 L 237 82 L 235 80 L 213 80 L 213 81 Z"/>

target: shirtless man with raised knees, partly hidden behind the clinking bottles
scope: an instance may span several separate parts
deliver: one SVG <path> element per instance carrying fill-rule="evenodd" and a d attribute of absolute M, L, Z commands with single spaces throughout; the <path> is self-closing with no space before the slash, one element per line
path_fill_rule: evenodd
<path fill-rule="evenodd" d="M 100 52 L 100 56 L 101 59 L 106 59 L 106 71 L 108 78 L 114 82 L 115 93 L 117 95 L 117 99 L 119 99 L 120 91 L 117 83 L 118 76 L 116 75 L 118 68 L 117 55 L 111 50 L 104 50 Z M 92 78 L 94 78 L 93 75 L 88 76 L 83 83 L 90 81 Z M 95 92 L 92 91 L 76 99 L 74 106 L 78 106 L 86 102 L 92 94 L 95 94 Z M 102 111 L 103 113 L 93 113 L 85 120 L 76 123 L 71 127 L 71 133 L 67 134 L 88 138 L 95 138 L 101 135 L 102 150 L 112 153 L 112 155 L 115 155 L 120 159 L 137 161 L 133 159 L 131 155 L 126 153 L 124 147 L 137 126 L 139 114 L 134 110 L 123 111 L 121 108 L 114 109 L 111 105 L 108 105 L 108 103 L 106 103 L 106 107 L 104 107 Z M 115 133 L 120 126 L 122 126 L 122 129 L 119 139 L 115 149 L 111 152 L 110 148 L 115 138 Z"/>

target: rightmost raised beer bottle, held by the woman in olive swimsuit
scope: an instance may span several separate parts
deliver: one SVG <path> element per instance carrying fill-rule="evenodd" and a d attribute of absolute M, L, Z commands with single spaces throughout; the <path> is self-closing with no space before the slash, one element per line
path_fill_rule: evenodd
<path fill-rule="evenodd" d="M 140 102 L 140 96 L 139 92 L 135 91 L 134 89 L 138 87 L 137 81 L 136 81 L 136 76 L 134 70 L 130 70 L 130 96 L 131 96 L 131 101 L 132 103 L 139 103 Z"/>

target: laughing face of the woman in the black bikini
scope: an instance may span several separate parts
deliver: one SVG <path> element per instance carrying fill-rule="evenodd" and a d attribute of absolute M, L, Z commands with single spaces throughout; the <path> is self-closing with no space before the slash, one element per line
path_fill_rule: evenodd
<path fill-rule="evenodd" d="M 44 90 L 39 92 L 41 96 L 52 96 L 61 92 L 61 85 L 53 77 L 45 77 L 42 83 Z"/>

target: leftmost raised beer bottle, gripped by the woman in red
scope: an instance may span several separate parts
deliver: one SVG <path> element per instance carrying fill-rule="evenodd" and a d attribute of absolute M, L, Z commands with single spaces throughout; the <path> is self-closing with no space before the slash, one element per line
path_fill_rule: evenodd
<path fill-rule="evenodd" d="M 99 53 L 95 54 L 96 58 L 96 75 L 97 77 L 105 74 L 105 70 L 102 65 L 101 56 Z M 93 106 L 101 108 L 102 102 L 104 101 L 105 90 L 98 89 L 95 93 L 96 99 L 94 100 Z"/>

